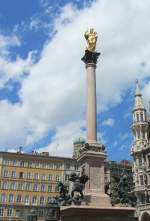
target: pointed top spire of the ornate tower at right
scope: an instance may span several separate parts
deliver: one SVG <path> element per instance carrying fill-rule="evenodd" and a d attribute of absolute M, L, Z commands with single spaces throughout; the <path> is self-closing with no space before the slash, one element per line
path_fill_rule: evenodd
<path fill-rule="evenodd" d="M 140 90 L 139 81 L 136 80 L 136 89 L 135 89 L 135 104 L 134 104 L 134 110 L 135 109 L 145 109 L 143 100 L 142 100 L 142 93 Z"/>

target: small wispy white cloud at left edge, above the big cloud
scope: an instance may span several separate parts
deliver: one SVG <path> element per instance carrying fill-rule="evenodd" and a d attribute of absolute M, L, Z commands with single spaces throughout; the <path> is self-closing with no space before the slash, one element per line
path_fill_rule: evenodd
<path fill-rule="evenodd" d="M 14 61 L 10 59 L 10 48 L 19 46 L 21 41 L 16 35 L 0 34 L 0 88 L 5 87 L 9 79 L 19 81 L 24 72 L 30 71 L 33 52 L 29 52 L 26 59 L 19 56 Z"/>

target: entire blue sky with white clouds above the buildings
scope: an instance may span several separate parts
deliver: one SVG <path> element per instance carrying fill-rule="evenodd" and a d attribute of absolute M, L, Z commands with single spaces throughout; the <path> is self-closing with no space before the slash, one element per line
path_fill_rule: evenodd
<path fill-rule="evenodd" d="M 135 81 L 150 100 L 149 0 L 0 1 L 0 150 L 71 156 L 85 137 L 83 33 L 98 33 L 98 137 L 130 159 Z"/>

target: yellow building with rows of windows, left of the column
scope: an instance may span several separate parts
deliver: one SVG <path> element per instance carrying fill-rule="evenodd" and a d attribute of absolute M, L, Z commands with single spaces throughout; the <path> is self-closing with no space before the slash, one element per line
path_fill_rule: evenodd
<path fill-rule="evenodd" d="M 72 158 L 0 152 L 0 220 L 23 220 L 35 210 L 38 220 L 50 198 L 58 195 L 57 183 L 69 188 L 69 174 L 78 172 Z"/>

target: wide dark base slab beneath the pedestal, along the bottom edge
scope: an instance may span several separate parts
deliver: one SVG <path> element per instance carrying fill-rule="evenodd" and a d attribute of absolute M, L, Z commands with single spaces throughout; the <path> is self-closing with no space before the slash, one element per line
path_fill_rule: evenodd
<path fill-rule="evenodd" d="M 137 221 L 134 208 L 71 206 L 61 210 L 61 221 Z"/>

